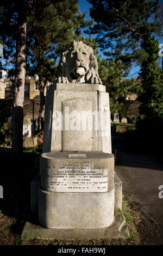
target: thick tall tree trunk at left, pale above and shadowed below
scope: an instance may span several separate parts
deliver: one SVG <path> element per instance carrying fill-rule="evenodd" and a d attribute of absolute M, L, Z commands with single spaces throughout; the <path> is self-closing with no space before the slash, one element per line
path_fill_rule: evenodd
<path fill-rule="evenodd" d="M 24 19 L 24 17 L 22 17 Z M 19 17 L 16 41 L 16 66 L 13 88 L 12 156 L 23 152 L 23 103 L 26 76 L 26 23 Z"/>

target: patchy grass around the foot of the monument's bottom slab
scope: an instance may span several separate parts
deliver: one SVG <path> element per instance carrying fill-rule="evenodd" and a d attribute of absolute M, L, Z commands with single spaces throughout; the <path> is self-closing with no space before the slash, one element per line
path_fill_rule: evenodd
<path fill-rule="evenodd" d="M 126 217 L 127 225 L 130 231 L 129 239 L 99 239 L 99 240 L 42 240 L 42 239 L 21 239 L 21 230 L 26 221 L 26 217 L 21 221 L 21 229 L 14 228 L 17 218 L 12 218 L 0 213 L 0 245 L 139 245 L 139 234 L 136 230 L 135 220 L 141 221 L 141 215 L 136 208 L 131 209 L 126 200 L 123 199 L 123 214 Z M 118 214 L 118 210 L 116 214 Z"/>

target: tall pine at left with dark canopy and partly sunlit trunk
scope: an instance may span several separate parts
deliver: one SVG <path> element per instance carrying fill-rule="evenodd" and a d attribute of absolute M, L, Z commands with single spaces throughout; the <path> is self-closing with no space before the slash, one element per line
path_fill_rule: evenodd
<path fill-rule="evenodd" d="M 54 70 L 56 45 L 67 44 L 72 39 L 73 28 L 80 28 L 83 16 L 76 15 L 77 0 L 72 1 L 1 1 L 3 15 L 0 16 L 0 39 L 4 42 L 4 59 L 15 65 L 13 118 L 12 118 L 12 155 L 20 156 L 23 149 L 23 101 L 26 72 L 26 48 L 31 62 L 36 63 L 40 75 L 40 99 L 43 109 L 43 77 Z M 29 22 L 32 21 L 33 23 Z M 28 25 L 28 26 L 27 26 Z M 27 31 L 27 32 L 26 32 Z M 27 47 L 26 47 L 26 39 Z M 30 39 L 30 40 L 29 40 Z M 34 46 L 34 47 L 33 47 Z M 32 48 L 33 47 L 33 48 Z M 49 50 L 51 49 L 51 50 Z M 50 57 L 51 56 L 51 57 Z M 29 55 L 28 55 L 29 57 Z M 35 57 L 35 59 L 34 59 Z"/>

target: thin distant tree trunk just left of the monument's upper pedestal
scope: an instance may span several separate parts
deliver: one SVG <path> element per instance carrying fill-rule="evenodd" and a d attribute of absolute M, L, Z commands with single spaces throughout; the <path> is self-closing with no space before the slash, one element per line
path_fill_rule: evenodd
<path fill-rule="evenodd" d="M 43 81 L 43 78 L 40 79 L 40 109 L 39 109 L 39 130 L 43 130 L 43 121 L 44 121 L 44 113 L 45 113 L 45 83 Z"/>

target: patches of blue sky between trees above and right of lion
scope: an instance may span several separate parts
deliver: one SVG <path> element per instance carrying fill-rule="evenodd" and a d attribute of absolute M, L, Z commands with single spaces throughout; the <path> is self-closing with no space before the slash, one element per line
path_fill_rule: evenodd
<path fill-rule="evenodd" d="M 159 2 L 163 2 L 163 0 L 160 0 Z M 79 4 L 81 13 L 83 13 L 84 11 L 86 11 L 86 13 L 87 13 L 86 18 L 87 18 L 87 19 L 91 19 L 91 17 L 90 17 L 90 8 L 92 7 L 92 5 L 91 5 L 89 2 L 87 2 L 86 0 L 79 0 L 78 4 Z M 82 32 L 82 33 L 83 33 L 83 32 Z M 84 35 L 84 36 L 88 36 L 88 35 L 86 35 L 86 34 L 84 34 L 84 33 L 83 33 L 83 35 Z M 93 37 L 95 37 L 95 35 L 92 35 L 92 38 L 93 38 Z M 159 43 L 160 43 L 160 44 L 161 44 L 161 43 L 163 44 L 163 40 L 162 40 L 162 42 L 161 42 L 161 40 L 159 40 Z M 102 58 L 105 58 L 103 52 L 100 51 L 100 49 L 99 49 L 99 54 L 102 55 Z M 130 74 L 128 75 L 127 78 L 139 76 L 139 71 L 140 71 L 140 66 L 138 66 L 138 65 L 137 65 L 137 66 L 133 66 L 133 68 L 131 69 Z"/>

